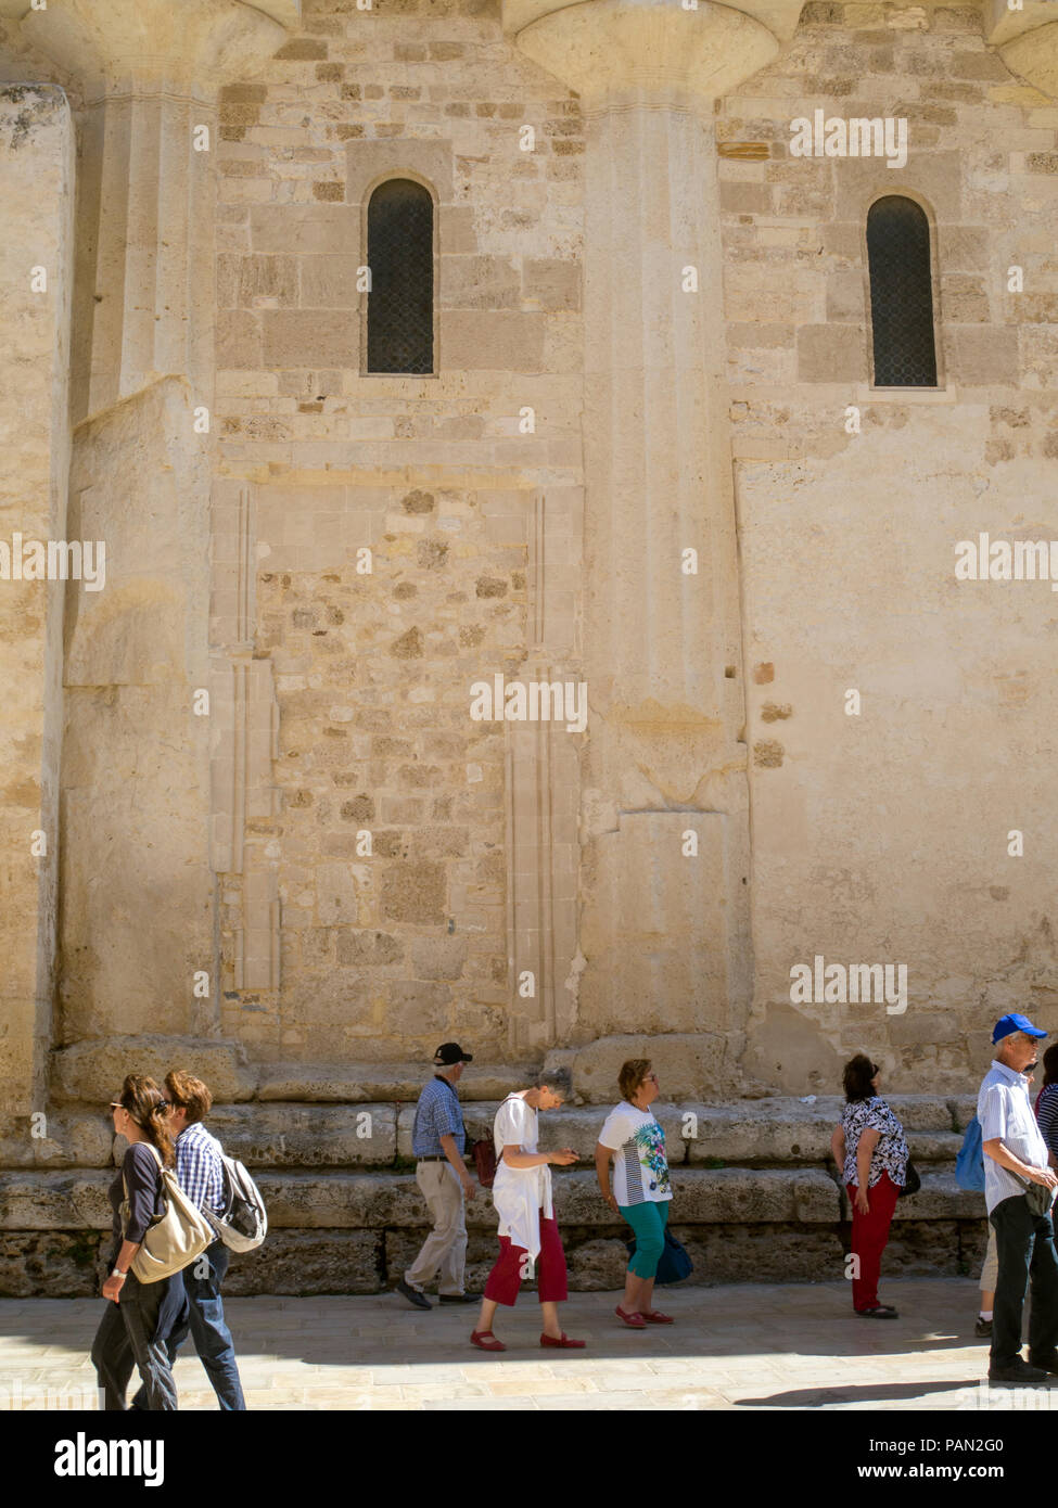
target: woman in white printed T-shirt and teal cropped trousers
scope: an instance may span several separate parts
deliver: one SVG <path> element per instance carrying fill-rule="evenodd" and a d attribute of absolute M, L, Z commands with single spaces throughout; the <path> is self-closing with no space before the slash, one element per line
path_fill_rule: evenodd
<path fill-rule="evenodd" d="M 647 1324 L 672 1324 L 670 1315 L 652 1307 L 654 1279 L 666 1249 L 672 1181 L 666 1134 L 650 1110 L 661 1092 L 650 1060 L 634 1057 L 623 1063 L 617 1087 L 622 1101 L 610 1111 L 599 1133 L 595 1170 L 602 1197 L 635 1232 L 635 1256 L 625 1274 L 625 1295 L 617 1304 L 617 1318 L 632 1330 L 644 1330 Z"/>

